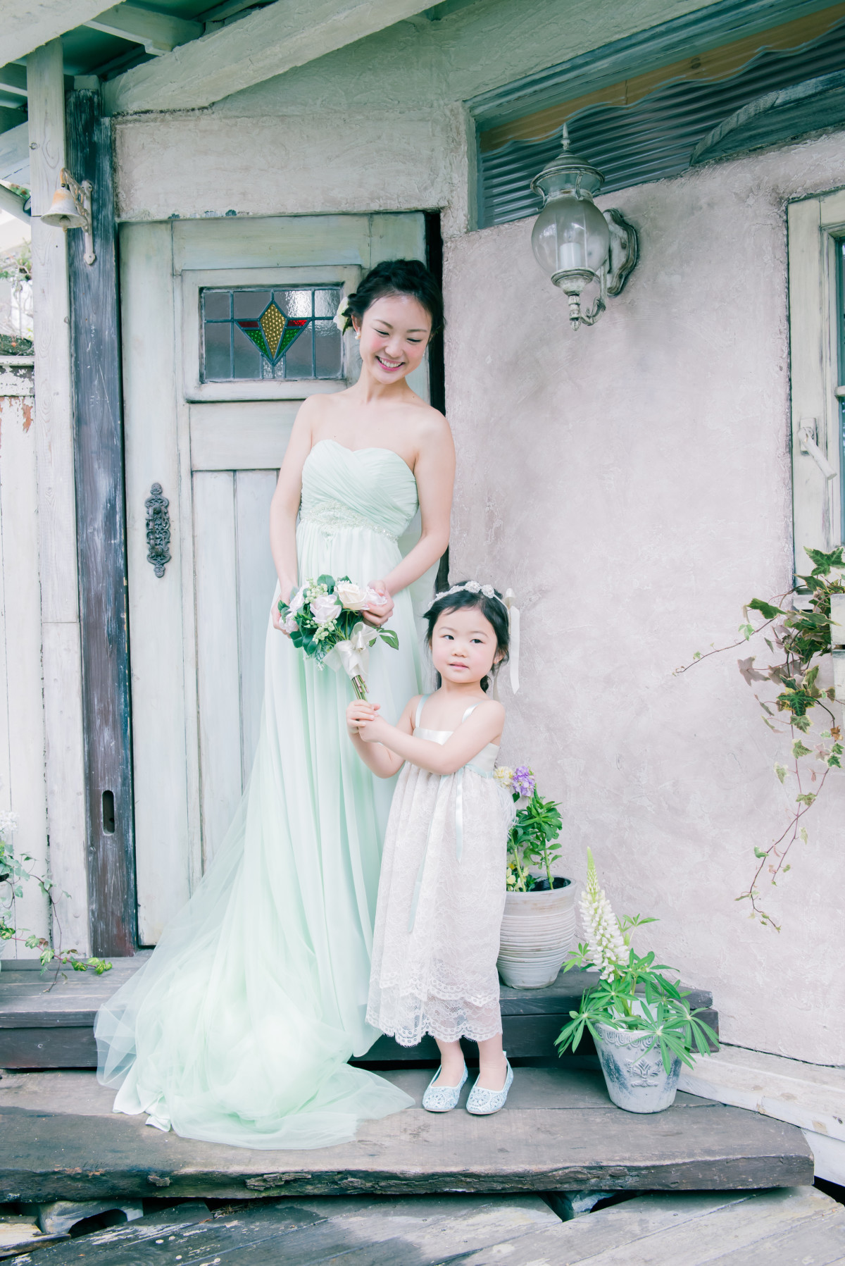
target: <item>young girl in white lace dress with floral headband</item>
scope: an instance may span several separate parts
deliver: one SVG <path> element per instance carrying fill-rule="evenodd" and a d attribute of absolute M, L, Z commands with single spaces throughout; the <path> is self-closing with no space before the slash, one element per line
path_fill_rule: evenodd
<path fill-rule="evenodd" d="M 464 581 L 426 611 L 440 687 L 410 700 L 397 725 L 378 704 L 347 709 L 362 761 L 379 777 L 405 763 L 391 806 L 376 909 L 367 1019 L 402 1046 L 430 1033 L 440 1067 L 422 1106 L 457 1106 L 460 1038 L 478 1043 L 467 1110 L 498 1112 L 514 1074 L 502 1051 L 498 934 L 512 800 L 493 779 L 505 709 L 486 696 L 507 658 L 509 617 L 492 585 Z"/>

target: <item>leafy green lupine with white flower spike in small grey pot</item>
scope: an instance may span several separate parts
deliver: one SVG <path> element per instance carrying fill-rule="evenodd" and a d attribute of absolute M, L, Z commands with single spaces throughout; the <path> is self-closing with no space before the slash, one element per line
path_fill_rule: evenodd
<path fill-rule="evenodd" d="M 611 910 L 603 889 L 598 886 L 592 851 L 587 849 L 587 885 L 582 894 L 581 915 L 587 941 L 571 951 L 564 971 L 583 967 L 601 974 L 598 984 L 584 990 L 581 1008 L 569 1012 L 555 1042 L 558 1055 L 578 1044 L 587 1029 L 593 1038 L 600 1037 L 598 1025 L 636 1031 L 648 1034 L 646 1050 L 660 1048 L 663 1067 L 669 1072 L 677 1057 L 692 1067 L 693 1048 L 708 1055 L 719 1048 L 719 1038 L 705 1020 L 703 1008 L 694 1012 L 686 1001 L 687 993 L 663 974 L 670 971 L 665 963 L 655 962 L 654 953 L 638 955 L 631 947 L 634 928 L 657 919 L 639 914 L 617 919 Z"/>

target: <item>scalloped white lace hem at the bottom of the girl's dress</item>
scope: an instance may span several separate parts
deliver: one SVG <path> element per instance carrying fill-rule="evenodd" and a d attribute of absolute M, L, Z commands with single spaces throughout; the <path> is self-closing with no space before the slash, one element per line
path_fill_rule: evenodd
<path fill-rule="evenodd" d="M 381 989 L 369 999 L 367 1022 L 395 1037 L 400 1046 L 419 1046 L 426 1033 L 441 1042 L 462 1037 L 486 1042 L 502 1032 L 498 999 L 471 1003 L 467 999 L 414 998 L 396 989 Z"/>

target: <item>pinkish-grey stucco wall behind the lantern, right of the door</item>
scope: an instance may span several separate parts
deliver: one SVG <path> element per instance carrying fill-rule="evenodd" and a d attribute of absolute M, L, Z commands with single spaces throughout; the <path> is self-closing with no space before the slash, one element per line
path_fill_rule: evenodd
<path fill-rule="evenodd" d="M 839 776 L 749 920 L 753 847 L 786 825 L 783 746 L 727 653 L 743 603 L 789 585 L 784 200 L 841 182 L 842 135 L 612 195 L 641 258 L 573 333 L 531 222 L 447 249 L 458 446 L 452 576 L 512 585 L 522 690 L 502 756 L 564 804 L 638 944 L 712 987 L 729 1042 L 839 1063 L 845 855 Z M 767 648 L 753 651 L 767 660 Z"/>

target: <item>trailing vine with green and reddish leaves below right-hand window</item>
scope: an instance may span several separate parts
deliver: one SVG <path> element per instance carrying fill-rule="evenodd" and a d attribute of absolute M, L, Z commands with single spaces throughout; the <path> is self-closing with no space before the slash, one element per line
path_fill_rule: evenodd
<path fill-rule="evenodd" d="M 789 822 L 780 834 L 765 847 L 755 846 L 756 858 L 751 881 L 737 901 L 749 901 L 751 918 L 780 931 L 762 905 L 760 882 L 768 875 L 777 885 L 778 877 L 791 870 L 787 861 L 792 846 L 808 836 L 803 819 L 815 805 L 831 770 L 842 767 L 842 734 L 830 704 L 835 699 L 832 687 L 821 690 L 817 685 L 821 661 L 831 652 L 830 600 L 834 594 L 845 594 L 844 547 L 830 553 L 807 549 L 813 568 L 808 576 L 798 576 L 798 584 L 777 601 L 753 599 L 743 609 L 739 627 L 741 638 L 729 646 L 713 647 L 706 653 L 696 652 L 691 663 L 675 670 L 675 676 L 712 655 L 722 655 L 743 646 L 758 634 L 774 663 L 763 671 L 755 667 L 756 656 L 737 660 L 739 671 L 751 689 L 756 682 L 768 684 L 770 693 L 764 698 L 755 691 L 763 710 L 763 722 L 788 741 L 789 755 L 775 761 L 774 775 L 791 796 Z M 791 605 L 787 605 L 791 603 Z M 762 617 L 754 624 L 749 613 Z"/>

